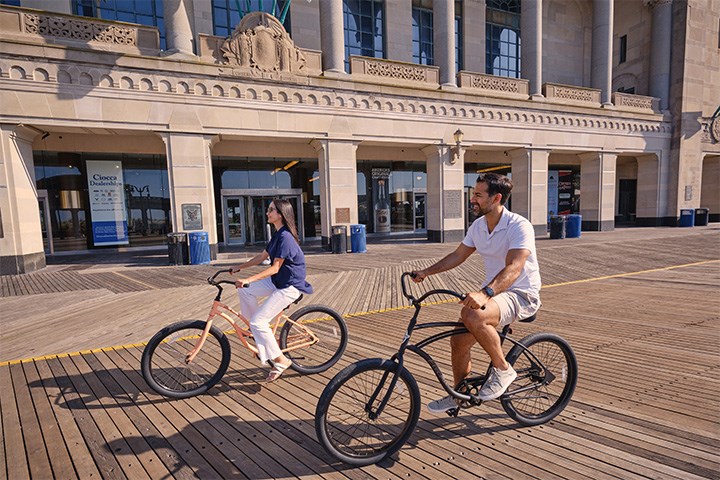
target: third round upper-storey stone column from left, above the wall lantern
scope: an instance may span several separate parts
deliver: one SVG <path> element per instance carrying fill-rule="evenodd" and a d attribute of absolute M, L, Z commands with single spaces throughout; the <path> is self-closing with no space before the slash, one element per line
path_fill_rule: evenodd
<path fill-rule="evenodd" d="M 440 85 L 456 87 L 454 0 L 433 2 L 433 56 L 440 67 Z"/>

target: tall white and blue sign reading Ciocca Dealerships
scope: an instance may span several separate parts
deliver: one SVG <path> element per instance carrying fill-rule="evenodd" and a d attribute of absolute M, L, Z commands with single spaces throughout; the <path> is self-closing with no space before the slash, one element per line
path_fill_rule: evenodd
<path fill-rule="evenodd" d="M 127 245 L 130 239 L 122 163 L 88 160 L 87 175 L 93 244 Z"/>

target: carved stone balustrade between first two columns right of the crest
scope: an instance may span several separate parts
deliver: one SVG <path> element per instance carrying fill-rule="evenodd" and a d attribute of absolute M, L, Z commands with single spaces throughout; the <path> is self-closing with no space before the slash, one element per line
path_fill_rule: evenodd
<path fill-rule="evenodd" d="M 372 57 L 350 57 L 350 73 L 358 79 L 398 86 L 440 87 L 440 69 L 429 65 Z"/>

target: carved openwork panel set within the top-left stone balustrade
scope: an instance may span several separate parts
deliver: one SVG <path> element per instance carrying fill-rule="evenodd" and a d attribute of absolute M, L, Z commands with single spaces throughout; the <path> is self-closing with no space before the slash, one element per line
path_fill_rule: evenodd
<path fill-rule="evenodd" d="M 35 35 L 114 45 L 135 46 L 137 44 L 137 29 L 135 28 L 76 18 L 25 13 L 23 14 L 23 27 L 25 33 Z"/>

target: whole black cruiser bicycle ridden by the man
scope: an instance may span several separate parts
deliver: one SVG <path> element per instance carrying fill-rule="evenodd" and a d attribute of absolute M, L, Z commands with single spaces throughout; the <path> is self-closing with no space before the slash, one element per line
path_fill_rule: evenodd
<path fill-rule="evenodd" d="M 402 274 L 403 295 L 415 307 L 400 348 L 390 359 L 371 358 L 348 366 L 325 387 L 315 411 L 315 430 L 320 443 L 338 460 L 356 466 L 370 465 L 397 452 L 412 434 L 420 417 L 420 389 L 404 367 L 406 351 L 422 357 L 432 368 L 445 391 L 458 401 L 448 412 L 457 416 L 461 409 L 483 402 L 478 392 L 484 375 L 470 376 L 452 388 L 440 368 L 423 349 L 444 338 L 467 333 L 459 322 L 418 324 L 422 302 L 433 295 L 451 295 L 460 300 L 465 295 L 452 290 L 431 290 L 420 298 L 408 293 L 407 277 Z M 535 315 L 521 319 L 531 322 Z M 410 344 L 415 330 L 449 328 L 418 343 Z M 501 342 L 513 344 L 507 362 L 517 378 L 499 398 L 505 412 L 524 426 L 540 425 L 563 411 L 577 384 L 577 359 L 570 345 L 552 333 L 533 333 L 516 341 L 510 337 L 510 325 L 500 333 Z"/>

